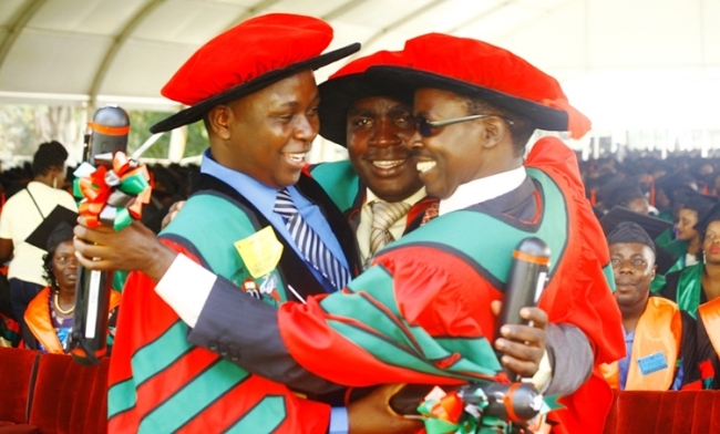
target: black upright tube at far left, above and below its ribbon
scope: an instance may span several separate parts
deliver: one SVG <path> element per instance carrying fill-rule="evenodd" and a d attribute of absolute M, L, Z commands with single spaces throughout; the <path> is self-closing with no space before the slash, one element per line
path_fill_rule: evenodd
<path fill-rule="evenodd" d="M 95 112 L 88 127 L 90 134 L 85 134 L 83 161 L 93 166 L 112 168 L 113 155 L 127 148 L 127 113 L 116 105 L 105 105 Z M 73 359 L 81 364 L 97 364 L 106 353 L 111 286 L 111 271 L 88 270 L 78 266 L 75 314 L 69 349 Z"/>

